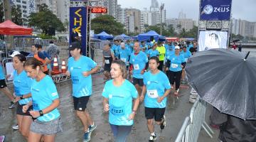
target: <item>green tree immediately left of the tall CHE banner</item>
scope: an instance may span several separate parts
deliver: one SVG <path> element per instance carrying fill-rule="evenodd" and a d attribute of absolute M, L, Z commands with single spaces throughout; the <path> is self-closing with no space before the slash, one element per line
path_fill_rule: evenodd
<path fill-rule="evenodd" d="M 43 34 L 49 35 L 49 32 L 53 29 L 56 31 L 65 31 L 65 27 L 60 19 L 48 9 L 46 4 L 38 6 L 38 13 L 31 13 L 28 16 L 28 25 L 39 28 L 43 31 Z"/>

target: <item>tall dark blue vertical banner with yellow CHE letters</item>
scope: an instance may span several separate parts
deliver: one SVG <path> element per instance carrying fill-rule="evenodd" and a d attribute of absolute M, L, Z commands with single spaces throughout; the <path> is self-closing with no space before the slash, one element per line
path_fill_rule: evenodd
<path fill-rule="evenodd" d="M 86 55 L 87 7 L 70 7 L 70 43 L 78 41 L 82 45 L 82 55 Z"/>

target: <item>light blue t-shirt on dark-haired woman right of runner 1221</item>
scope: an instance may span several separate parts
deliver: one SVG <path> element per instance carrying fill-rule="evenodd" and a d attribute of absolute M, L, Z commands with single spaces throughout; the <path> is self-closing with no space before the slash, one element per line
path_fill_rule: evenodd
<path fill-rule="evenodd" d="M 146 72 L 143 77 L 144 85 L 146 86 L 146 95 L 144 97 L 144 105 L 149 108 L 164 108 L 166 107 L 166 97 L 161 103 L 157 102 L 159 97 L 164 96 L 166 89 L 171 89 L 171 84 L 164 72 L 159 71 L 152 74 Z"/>

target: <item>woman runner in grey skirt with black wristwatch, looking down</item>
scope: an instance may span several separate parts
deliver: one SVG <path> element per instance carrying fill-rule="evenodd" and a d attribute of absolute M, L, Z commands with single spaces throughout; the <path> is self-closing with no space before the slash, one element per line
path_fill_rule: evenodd
<path fill-rule="evenodd" d="M 57 107 L 60 105 L 58 92 L 53 80 L 42 71 L 42 62 L 36 58 L 29 58 L 24 63 L 24 68 L 31 84 L 32 101 L 23 106 L 23 113 L 33 105 L 33 110 L 28 111 L 33 117 L 28 142 L 39 142 L 43 137 L 44 142 L 55 141 L 56 133 L 62 131 L 62 121 Z"/>

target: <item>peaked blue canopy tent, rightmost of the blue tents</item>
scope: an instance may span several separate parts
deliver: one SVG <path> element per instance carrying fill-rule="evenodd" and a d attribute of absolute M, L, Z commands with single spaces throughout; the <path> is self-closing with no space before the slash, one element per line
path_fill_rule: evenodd
<path fill-rule="evenodd" d="M 156 33 L 155 31 L 149 31 L 147 33 L 141 33 L 138 35 L 138 39 L 139 41 L 145 41 L 145 40 L 156 40 L 156 41 L 164 41 L 165 37 L 162 35 L 159 35 L 158 33 Z"/>

